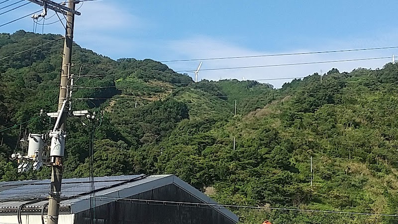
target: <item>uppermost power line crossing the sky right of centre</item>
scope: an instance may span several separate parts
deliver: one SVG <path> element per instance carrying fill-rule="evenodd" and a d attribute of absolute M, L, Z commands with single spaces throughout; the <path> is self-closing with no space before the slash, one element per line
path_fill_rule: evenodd
<path fill-rule="evenodd" d="M 184 61 L 208 61 L 208 60 L 237 59 L 237 58 L 259 58 L 259 57 L 274 57 L 274 56 L 288 56 L 288 55 L 323 54 L 323 53 L 350 52 L 350 51 L 382 50 L 382 49 L 393 49 L 393 48 L 398 48 L 398 46 L 360 48 L 360 49 L 348 49 L 348 50 L 332 50 L 332 51 L 314 51 L 314 52 L 300 52 L 300 53 L 286 53 L 286 54 L 264 54 L 264 55 L 237 56 L 237 57 L 167 60 L 167 61 L 160 61 L 160 62 L 184 62 Z"/>

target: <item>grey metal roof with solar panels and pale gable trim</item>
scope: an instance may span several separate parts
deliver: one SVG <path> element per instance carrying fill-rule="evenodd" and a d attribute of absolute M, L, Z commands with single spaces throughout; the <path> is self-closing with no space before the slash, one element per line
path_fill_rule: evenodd
<path fill-rule="evenodd" d="M 98 197 L 95 198 L 96 206 L 132 197 L 169 184 L 177 185 L 203 203 L 217 204 L 175 175 L 97 177 L 94 181 L 96 187 L 95 195 Z M 45 197 L 48 196 L 49 189 L 50 180 L 0 182 L 0 212 L 4 209 L 19 208 L 27 202 L 28 205 L 25 205 L 24 208 L 42 208 L 48 202 Z M 61 198 L 64 198 L 60 202 L 61 208 L 70 209 L 70 213 L 72 214 L 90 209 L 90 198 L 85 197 L 92 194 L 89 178 L 63 179 L 61 192 Z M 40 198 L 43 200 L 35 201 Z M 213 208 L 230 220 L 238 222 L 238 217 L 229 210 L 221 206 Z"/>

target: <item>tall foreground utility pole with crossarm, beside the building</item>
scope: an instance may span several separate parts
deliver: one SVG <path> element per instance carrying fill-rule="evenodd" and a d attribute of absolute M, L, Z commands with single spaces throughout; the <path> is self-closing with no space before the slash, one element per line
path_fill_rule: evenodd
<path fill-rule="evenodd" d="M 51 147 L 50 150 L 50 162 L 51 162 L 51 189 L 48 204 L 48 215 L 47 224 L 58 224 L 59 215 L 59 203 L 61 196 L 61 182 L 63 173 L 63 157 L 65 151 L 65 138 L 66 138 L 66 118 L 69 110 L 68 102 L 68 86 L 70 78 L 70 67 L 72 60 L 72 44 L 73 44 L 73 29 L 75 14 L 80 15 L 80 12 L 75 10 L 75 3 L 79 1 L 70 0 L 68 7 L 58 4 L 51 0 L 29 0 L 33 3 L 43 6 L 43 13 L 40 15 L 33 15 L 32 18 L 45 17 L 47 15 L 47 9 L 54 10 L 55 12 L 62 13 L 66 16 L 66 34 L 64 42 L 64 53 L 62 59 L 62 71 L 61 71 L 61 84 L 58 98 L 58 119 L 54 130 L 51 132 L 53 142 L 56 143 L 56 147 Z"/>

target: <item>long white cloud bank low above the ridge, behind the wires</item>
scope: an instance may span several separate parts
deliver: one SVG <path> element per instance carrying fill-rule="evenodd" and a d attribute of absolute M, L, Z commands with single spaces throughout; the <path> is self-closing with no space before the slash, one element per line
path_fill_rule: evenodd
<path fill-rule="evenodd" d="M 168 50 L 172 52 L 170 55 L 172 55 L 177 59 L 180 58 L 188 59 L 188 58 L 214 58 L 214 57 L 234 57 L 234 56 L 248 56 L 248 55 L 266 55 L 266 54 L 281 54 L 281 53 L 283 54 L 283 53 L 295 53 L 295 52 L 298 53 L 298 52 L 312 52 L 319 50 L 321 51 L 340 50 L 340 49 L 354 48 L 354 46 L 356 45 L 358 45 L 358 43 L 356 42 L 352 42 L 351 44 L 349 42 L 345 42 L 344 44 L 340 43 L 333 45 L 325 43 L 322 49 L 295 49 L 289 52 L 263 52 L 263 51 L 256 51 L 248 48 L 239 47 L 232 43 L 215 40 L 205 36 L 197 36 L 190 39 L 172 41 L 168 45 Z M 378 43 L 373 42 L 372 44 L 369 44 L 367 46 L 369 47 L 372 45 L 373 46 L 378 45 Z M 209 61 L 203 61 L 202 69 L 389 57 L 394 52 L 396 52 L 396 49 L 328 53 L 328 54 L 209 60 Z M 319 72 L 320 70 L 322 70 L 322 72 L 325 73 L 332 68 L 337 68 L 340 72 L 343 71 L 350 72 L 358 67 L 372 68 L 372 69 L 381 68 L 390 61 L 391 59 L 381 59 L 381 60 L 367 60 L 367 61 L 353 61 L 353 62 L 335 62 L 335 63 L 325 63 L 325 64 L 292 65 L 292 66 L 267 67 L 267 68 L 200 71 L 199 80 L 200 79 L 219 80 L 219 79 L 230 79 L 230 78 L 242 80 L 242 77 L 244 77 L 246 80 L 303 77 L 311 75 L 315 72 Z M 167 64 L 176 71 L 195 70 L 198 67 L 199 61 L 169 62 Z M 274 85 L 276 88 L 279 88 L 285 82 L 289 81 L 291 81 L 291 79 L 273 80 L 265 82 Z"/>

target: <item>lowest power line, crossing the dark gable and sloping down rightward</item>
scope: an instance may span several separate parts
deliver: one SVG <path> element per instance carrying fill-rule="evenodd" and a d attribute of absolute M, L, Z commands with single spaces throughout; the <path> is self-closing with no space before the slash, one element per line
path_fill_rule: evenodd
<path fill-rule="evenodd" d="M 206 203 L 194 203 L 194 202 L 174 202 L 174 201 L 160 201 L 160 200 L 147 200 L 147 199 L 128 199 L 128 198 L 113 198 L 104 196 L 75 196 L 75 195 L 64 195 L 77 198 L 99 198 L 99 199 L 109 199 L 109 200 L 125 200 L 125 201 L 135 201 L 135 202 L 153 202 L 153 203 L 165 203 L 177 204 L 177 205 L 195 205 L 195 206 L 212 206 L 212 207 L 228 207 L 228 208 L 246 208 L 246 209 L 266 209 L 266 210 L 281 210 L 281 211 L 295 211 L 295 212 L 311 212 L 311 213 L 330 213 L 330 214 L 345 214 L 345 215 L 360 215 L 360 216 L 380 216 L 380 217 L 398 217 L 398 215 L 389 214 L 372 214 L 372 213 L 356 213 L 356 212 L 341 212 L 341 211 L 327 211 L 327 210 L 309 210 L 309 209 L 289 209 L 289 208 L 272 208 L 272 207 L 260 207 L 260 206 L 239 206 L 239 205 L 221 205 L 221 204 L 206 204 Z"/>

